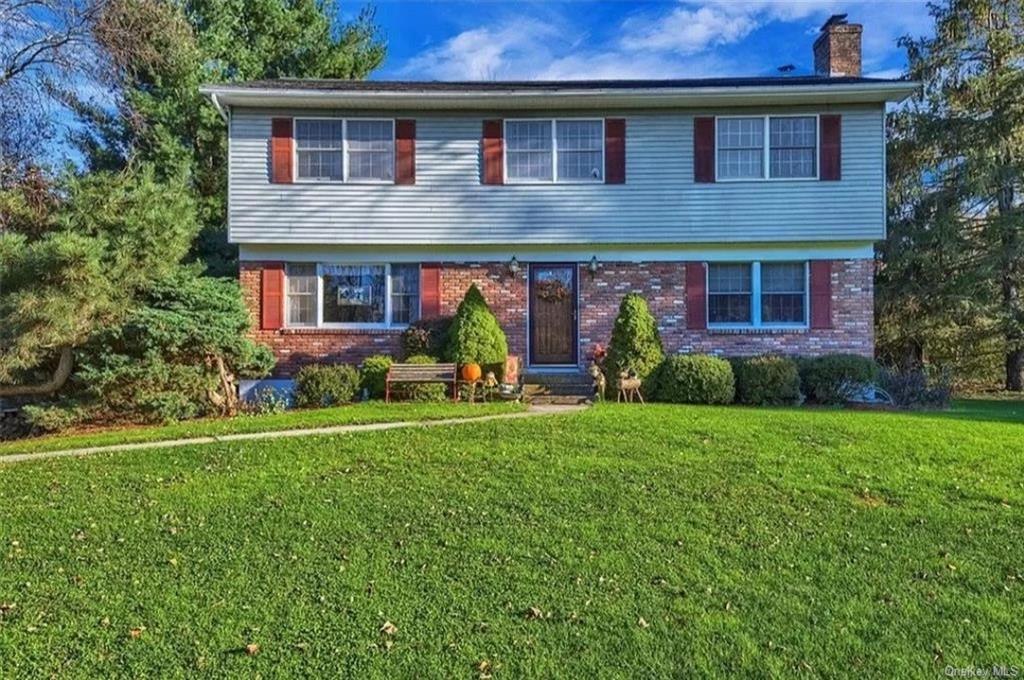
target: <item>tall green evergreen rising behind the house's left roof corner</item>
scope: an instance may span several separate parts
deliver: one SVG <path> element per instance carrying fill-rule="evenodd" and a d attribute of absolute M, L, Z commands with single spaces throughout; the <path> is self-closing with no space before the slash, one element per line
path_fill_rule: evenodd
<path fill-rule="evenodd" d="M 204 83 L 266 78 L 366 78 L 384 58 L 373 13 L 341 23 L 334 0 L 110 0 L 97 40 L 117 65 L 116 110 L 69 93 L 91 169 L 129 158 L 189 171 L 202 231 L 193 256 L 234 273 L 225 228 L 224 122 Z M 125 44 L 125 36 L 135 36 Z M 102 103 L 102 102 L 101 102 Z"/>

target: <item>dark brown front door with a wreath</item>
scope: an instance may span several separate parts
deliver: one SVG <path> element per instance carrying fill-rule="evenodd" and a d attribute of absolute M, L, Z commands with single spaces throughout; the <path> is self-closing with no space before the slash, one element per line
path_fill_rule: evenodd
<path fill-rule="evenodd" d="M 530 366 L 577 363 L 577 267 L 529 266 Z"/>

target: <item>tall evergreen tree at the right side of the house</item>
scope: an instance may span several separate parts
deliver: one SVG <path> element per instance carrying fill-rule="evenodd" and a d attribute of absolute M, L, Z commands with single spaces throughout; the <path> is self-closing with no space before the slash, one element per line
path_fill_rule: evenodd
<path fill-rule="evenodd" d="M 924 353 L 926 339 L 995 343 L 1006 387 L 1019 391 L 1024 0 L 948 0 L 931 11 L 935 36 L 903 41 L 923 87 L 890 128 L 896 181 L 881 336 L 910 355 Z"/>

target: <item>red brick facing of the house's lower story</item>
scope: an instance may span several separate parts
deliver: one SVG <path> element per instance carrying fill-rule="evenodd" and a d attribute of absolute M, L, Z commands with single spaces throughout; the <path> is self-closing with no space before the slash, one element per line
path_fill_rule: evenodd
<path fill-rule="evenodd" d="M 357 364 L 371 354 L 401 350 L 400 331 L 284 329 L 260 331 L 261 262 L 242 262 L 240 280 L 257 330 L 253 337 L 278 356 L 274 375 L 289 377 L 304 364 Z M 505 330 L 509 351 L 526 355 L 527 270 L 512 274 L 505 262 L 444 262 L 440 269 L 440 309 L 455 312 L 475 283 Z M 667 352 L 730 355 L 780 353 L 814 355 L 874 352 L 873 262 L 836 260 L 831 267 L 833 328 L 806 330 L 693 331 L 686 328 L 686 265 L 683 262 L 602 262 L 595 274 L 580 264 L 580 363 L 595 343 L 607 345 L 623 296 L 643 295 L 658 323 Z"/>

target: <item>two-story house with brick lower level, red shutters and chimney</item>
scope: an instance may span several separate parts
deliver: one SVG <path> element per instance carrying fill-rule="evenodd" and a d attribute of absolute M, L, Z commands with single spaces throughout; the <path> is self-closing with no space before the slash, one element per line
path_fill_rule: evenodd
<path fill-rule="evenodd" d="M 646 297 L 669 352 L 871 355 L 885 108 L 861 27 L 816 75 L 207 86 L 229 239 L 276 377 L 398 354 L 470 283 L 510 351 L 578 370 Z"/>

